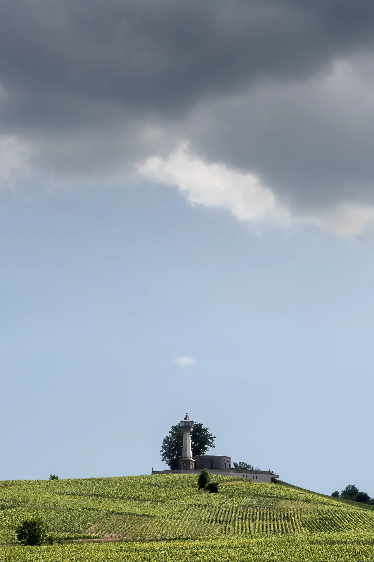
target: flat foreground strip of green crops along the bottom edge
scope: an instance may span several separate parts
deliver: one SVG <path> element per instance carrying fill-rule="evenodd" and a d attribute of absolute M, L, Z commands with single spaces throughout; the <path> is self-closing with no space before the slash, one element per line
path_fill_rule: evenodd
<path fill-rule="evenodd" d="M 116 542 L 0 549 L 0 562 L 374 562 L 373 533 Z"/>

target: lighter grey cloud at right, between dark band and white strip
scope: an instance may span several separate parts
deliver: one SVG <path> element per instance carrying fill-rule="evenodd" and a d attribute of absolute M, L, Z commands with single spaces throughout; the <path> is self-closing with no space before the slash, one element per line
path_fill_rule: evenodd
<path fill-rule="evenodd" d="M 373 65 L 354 60 L 260 84 L 198 108 L 188 135 L 197 153 L 257 173 L 290 207 L 373 204 L 373 79 Z"/>

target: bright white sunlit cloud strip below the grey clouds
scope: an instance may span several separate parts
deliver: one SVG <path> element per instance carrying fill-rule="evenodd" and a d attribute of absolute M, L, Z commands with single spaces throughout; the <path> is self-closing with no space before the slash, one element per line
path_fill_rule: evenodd
<path fill-rule="evenodd" d="M 293 214 L 256 175 L 220 162 L 204 162 L 188 152 L 187 143 L 167 158 L 147 158 L 137 169 L 154 182 L 176 186 L 191 205 L 224 209 L 239 221 L 279 226 L 312 224 L 344 238 L 354 238 L 374 226 L 374 207 L 349 202 L 313 215 Z"/>

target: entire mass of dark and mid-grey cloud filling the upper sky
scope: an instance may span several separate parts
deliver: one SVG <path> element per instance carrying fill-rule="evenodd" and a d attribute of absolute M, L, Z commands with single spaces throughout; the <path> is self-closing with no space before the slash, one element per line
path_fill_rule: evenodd
<path fill-rule="evenodd" d="M 371 154 L 363 161 L 349 134 L 372 143 L 374 112 L 363 129 L 338 123 L 308 81 L 371 53 L 373 29 L 372 0 L 3 0 L 1 130 L 29 139 L 38 165 L 72 173 L 105 173 L 188 134 L 295 204 L 354 185 L 364 200 Z M 193 117 L 204 105 L 206 129 Z"/>

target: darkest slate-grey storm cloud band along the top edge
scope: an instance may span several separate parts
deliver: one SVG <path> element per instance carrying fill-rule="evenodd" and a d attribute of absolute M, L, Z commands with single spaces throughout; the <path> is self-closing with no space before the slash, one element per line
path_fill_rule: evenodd
<path fill-rule="evenodd" d="M 307 75 L 370 45 L 373 21 L 370 1 L 3 0 L 2 119 L 178 111 L 259 75 Z"/>

